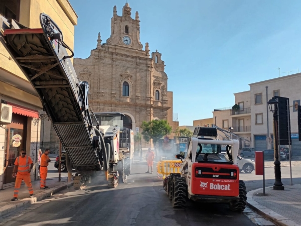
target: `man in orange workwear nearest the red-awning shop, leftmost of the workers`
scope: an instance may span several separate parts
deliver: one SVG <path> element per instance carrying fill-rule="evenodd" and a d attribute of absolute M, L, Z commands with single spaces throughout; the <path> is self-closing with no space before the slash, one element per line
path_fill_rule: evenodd
<path fill-rule="evenodd" d="M 30 172 L 33 167 L 33 160 L 31 159 L 31 157 L 26 155 L 26 150 L 24 148 L 21 149 L 21 156 L 18 156 L 16 158 L 15 167 L 12 175 L 13 178 L 17 176 L 14 197 L 12 198 L 12 201 L 18 200 L 18 194 L 22 180 L 24 180 L 28 188 L 30 197 L 34 197 L 34 189 L 30 179 Z"/>

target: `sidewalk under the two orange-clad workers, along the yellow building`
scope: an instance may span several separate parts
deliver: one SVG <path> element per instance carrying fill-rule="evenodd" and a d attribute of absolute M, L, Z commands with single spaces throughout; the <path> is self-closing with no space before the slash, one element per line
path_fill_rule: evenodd
<path fill-rule="evenodd" d="M 32 181 L 34 198 L 29 198 L 29 192 L 24 182 L 21 184 L 17 201 L 11 201 L 14 196 L 14 187 L 0 190 L 0 216 L 11 213 L 21 206 L 25 207 L 34 202 L 41 201 L 43 198 L 66 189 L 67 185 L 68 187 L 73 185 L 73 181 L 67 183 L 66 177 L 61 179 L 61 182 L 58 182 L 58 178 L 47 179 L 46 184 L 49 187 L 47 189 L 40 189 L 40 180 Z"/>

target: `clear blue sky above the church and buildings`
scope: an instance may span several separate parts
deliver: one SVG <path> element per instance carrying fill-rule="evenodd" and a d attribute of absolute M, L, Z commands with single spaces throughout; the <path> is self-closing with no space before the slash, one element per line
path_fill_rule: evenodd
<path fill-rule="evenodd" d="M 69 0 L 78 15 L 75 57 L 87 58 L 110 36 L 113 6 L 126 1 Z M 299 0 L 129 0 L 140 41 L 162 53 L 180 126 L 232 106 L 249 83 L 297 73 L 301 53 Z M 286 72 L 286 73 L 283 73 Z"/>

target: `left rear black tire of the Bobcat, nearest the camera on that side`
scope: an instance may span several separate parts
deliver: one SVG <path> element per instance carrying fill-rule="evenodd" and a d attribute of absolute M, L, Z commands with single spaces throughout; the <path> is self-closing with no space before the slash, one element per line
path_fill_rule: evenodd
<path fill-rule="evenodd" d="M 184 177 L 174 177 L 173 207 L 185 208 L 187 201 L 187 185 Z"/>

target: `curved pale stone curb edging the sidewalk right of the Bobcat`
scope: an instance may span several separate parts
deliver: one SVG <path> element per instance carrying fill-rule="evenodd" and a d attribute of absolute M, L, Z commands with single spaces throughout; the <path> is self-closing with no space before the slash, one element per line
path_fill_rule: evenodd
<path fill-rule="evenodd" d="M 271 188 L 271 187 L 273 187 L 273 186 L 265 187 L 265 189 Z M 301 226 L 301 224 L 297 224 L 296 222 L 288 219 L 287 217 L 282 216 L 282 215 L 274 212 L 273 210 L 267 208 L 266 206 L 261 205 L 258 202 L 256 202 L 253 199 L 253 194 L 256 193 L 259 190 L 262 190 L 262 188 L 252 190 L 252 191 L 249 191 L 247 193 L 247 205 L 251 209 L 253 209 L 259 215 L 261 215 L 262 217 L 270 220 L 271 222 L 273 222 L 276 225 L 279 225 L 279 226 Z"/>

